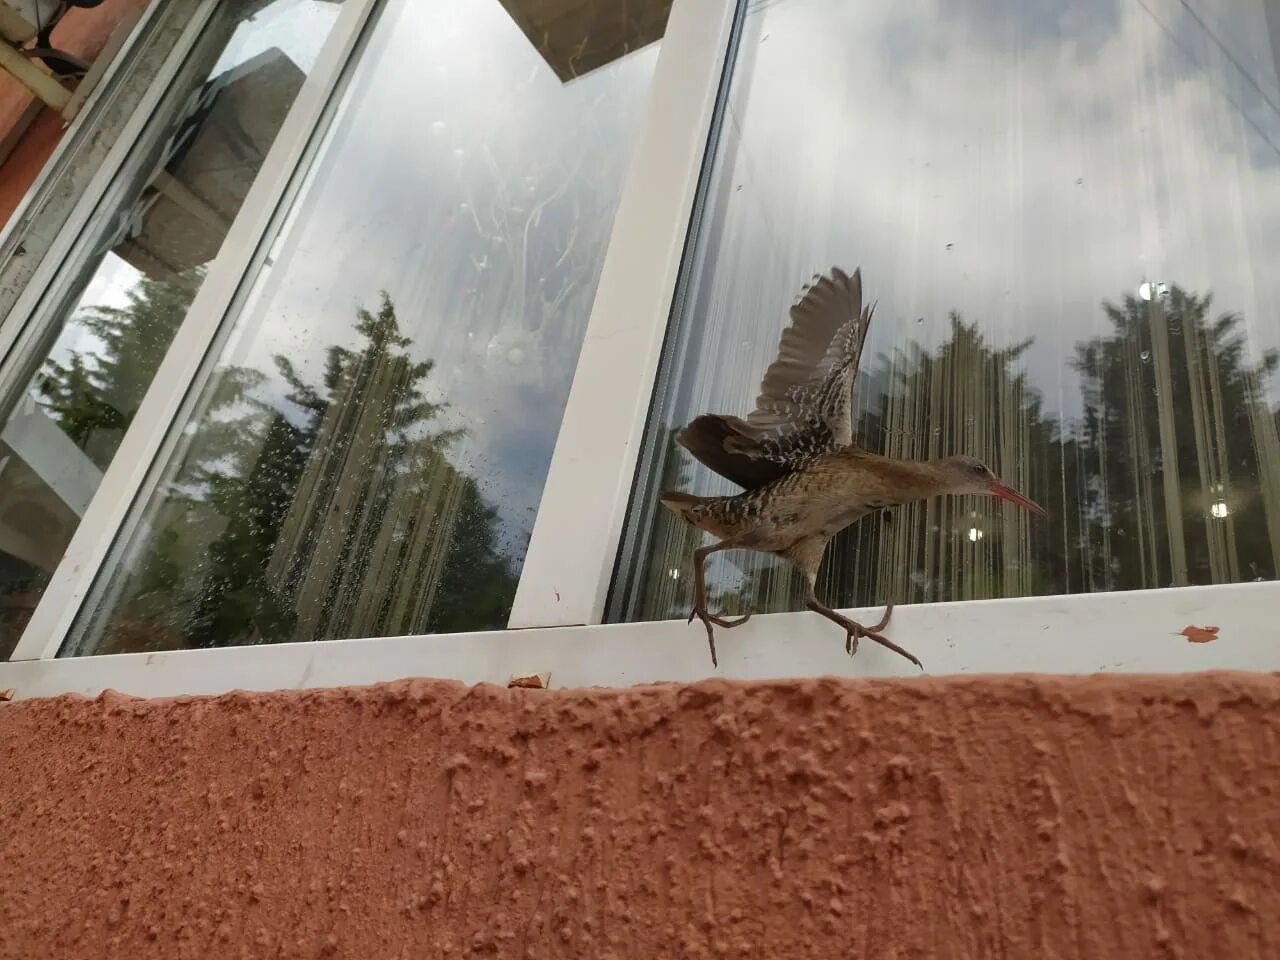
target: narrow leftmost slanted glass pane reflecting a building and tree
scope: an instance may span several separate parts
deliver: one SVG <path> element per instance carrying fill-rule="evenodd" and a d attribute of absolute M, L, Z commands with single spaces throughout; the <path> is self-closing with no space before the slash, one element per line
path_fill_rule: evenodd
<path fill-rule="evenodd" d="M 50 288 L 0 431 L 0 653 L 12 652 L 339 6 L 219 4 Z M 20 364 L 20 361 L 19 361 Z"/>

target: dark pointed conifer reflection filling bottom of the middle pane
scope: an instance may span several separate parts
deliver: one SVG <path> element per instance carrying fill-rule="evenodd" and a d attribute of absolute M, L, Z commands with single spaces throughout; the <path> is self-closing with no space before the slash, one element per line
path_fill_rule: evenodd
<path fill-rule="evenodd" d="M 428 429 L 444 410 L 422 393 L 433 364 L 410 357 L 385 294 L 355 329 L 319 385 L 276 357 L 287 407 L 262 374 L 221 374 L 109 648 L 146 645 L 140 620 L 182 645 L 506 623 L 497 513 L 444 456 L 461 431 Z"/>

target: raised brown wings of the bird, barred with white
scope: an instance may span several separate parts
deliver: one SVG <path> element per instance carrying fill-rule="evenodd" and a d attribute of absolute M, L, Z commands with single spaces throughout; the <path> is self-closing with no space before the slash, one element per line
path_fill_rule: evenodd
<path fill-rule="evenodd" d="M 704 413 L 676 442 L 721 476 L 753 489 L 854 440 L 852 385 L 874 306 L 861 271 L 832 268 L 791 307 L 778 358 L 742 420 Z"/>

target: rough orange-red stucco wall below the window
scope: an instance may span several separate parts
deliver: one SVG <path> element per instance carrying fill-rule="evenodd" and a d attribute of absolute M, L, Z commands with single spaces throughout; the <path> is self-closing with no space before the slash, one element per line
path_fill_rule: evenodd
<path fill-rule="evenodd" d="M 1276 957 L 1280 677 L 0 705 L 3 957 Z"/>

